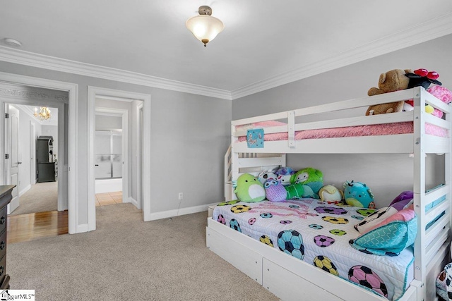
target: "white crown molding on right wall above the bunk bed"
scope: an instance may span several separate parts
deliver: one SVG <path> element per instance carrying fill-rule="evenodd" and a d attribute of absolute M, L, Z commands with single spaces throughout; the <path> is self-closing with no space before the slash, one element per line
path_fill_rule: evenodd
<path fill-rule="evenodd" d="M 388 54 L 389 52 L 420 44 L 422 42 L 427 42 L 431 39 L 436 39 L 437 37 L 450 35 L 451 33 L 452 13 L 447 13 L 439 18 L 427 20 L 424 23 L 417 24 L 392 35 L 363 44 L 354 49 L 349 49 L 341 54 L 317 61 L 316 63 L 311 63 L 266 80 L 246 85 L 231 91 L 231 96 L 232 99 L 239 99 L 247 95 L 302 80 L 303 78 L 309 78 L 310 76 L 347 66 L 352 63 Z"/>

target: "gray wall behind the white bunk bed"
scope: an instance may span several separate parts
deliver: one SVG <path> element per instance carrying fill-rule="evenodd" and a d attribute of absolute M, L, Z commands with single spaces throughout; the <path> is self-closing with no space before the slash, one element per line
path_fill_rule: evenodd
<path fill-rule="evenodd" d="M 380 73 L 396 68 L 436 70 L 440 75 L 439 80 L 452 90 L 452 60 L 448 59 L 451 47 L 452 35 L 448 35 L 235 99 L 232 101 L 232 119 L 364 97 L 370 87 L 378 87 Z M 429 186 L 444 181 L 441 168 L 443 160 L 444 156 L 427 157 Z M 307 166 L 319 168 L 323 171 L 326 184 L 342 185 L 345 180 L 367 183 L 374 191 L 379 207 L 391 202 L 403 190 L 412 190 L 412 159 L 405 154 L 295 154 L 287 156 L 287 166 L 296 169 Z"/>

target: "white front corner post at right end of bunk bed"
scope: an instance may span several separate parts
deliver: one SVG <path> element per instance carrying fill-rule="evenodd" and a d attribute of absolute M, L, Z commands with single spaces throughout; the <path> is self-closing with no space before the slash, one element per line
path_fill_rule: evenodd
<path fill-rule="evenodd" d="M 420 281 L 422 290 L 417 290 L 417 300 L 426 300 L 427 290 L 427 258 L 425 238 L 425 99 L 423 88 L 413 89 L 414 113 L 413 113 L 413 192 L 414 207 L 417 215 L 417 236 L 415 240 L 415 279 Z"/>

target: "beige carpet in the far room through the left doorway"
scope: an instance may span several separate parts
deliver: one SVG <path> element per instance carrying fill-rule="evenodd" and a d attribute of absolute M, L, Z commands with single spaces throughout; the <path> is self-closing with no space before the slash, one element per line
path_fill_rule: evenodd
<path fill-rule="evenodd" d="M 10 215 L 58 210 L 58 182 L 32 185 L 19 197 L 19 207 Z"/>

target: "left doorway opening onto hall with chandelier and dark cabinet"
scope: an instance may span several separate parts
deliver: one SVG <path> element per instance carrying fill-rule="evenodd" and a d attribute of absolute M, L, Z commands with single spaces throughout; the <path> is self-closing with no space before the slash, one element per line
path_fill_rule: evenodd
<path fill-rule="evenodd" d="M 58 177 L 59 155 L 64 156 L 64 152 L 59 152 L 59 131 L 63 132 L 62 144 L 66 146 L 64 128 L 58 127 L 59 109 L 50 103 L 46 106 L 30 104 L 33 99 L 28 99 L 26 104 L 9 103 L 5 108 L 9 111 L 5 126 L 6 149 L 11 156 L 7 161 L 11 165 L 11 183 L 18 189 L 18 202 L 10 203 L 8 214 L 11 216 L 68 209 L 67 192 L 64 192 L 67 184 Z M 40 115 L 40 111 L 48 112 L 48 115 Z M 61 161 L 62 166 L 64 161 Z M 18 164 L 17 168 L 14 163 Z M 64 177 L 62 179 L 64 181 Z"/>

